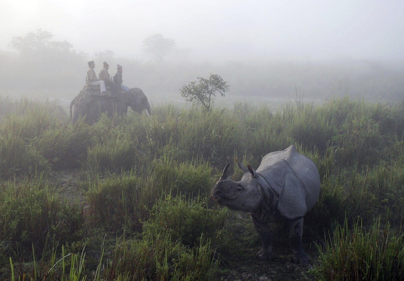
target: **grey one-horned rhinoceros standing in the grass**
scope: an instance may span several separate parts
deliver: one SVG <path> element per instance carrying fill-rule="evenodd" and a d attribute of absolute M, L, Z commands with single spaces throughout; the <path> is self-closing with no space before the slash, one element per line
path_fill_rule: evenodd
<path fill-rule="evenodd" d="M 242 179 L 233 182 L 227 178 L 228 163 L 212 189 L 213 200 L 230 209 L 250 213 L 262 241 L 262 248 L 257 254 L 260 260 L 271 260 L 273 257 L 268 223 L 277 222 L 288 224 L 293 261 L 307 263 L 301 238 L 303 217 L 316 204 L 320 193 L 316 165 L 299 154 L 293 145 L 265 155 L 256 171 L 250 165 L 246 168 L 237 163 L 244 172 Z"/>

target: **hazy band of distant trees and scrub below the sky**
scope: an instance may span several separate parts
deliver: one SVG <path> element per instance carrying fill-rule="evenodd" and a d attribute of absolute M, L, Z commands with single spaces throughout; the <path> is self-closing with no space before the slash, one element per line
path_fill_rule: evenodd
<path fill-rule="evenodd" d="M 139 43 L 140 44 L 140 43 Z M 189 50 L 179 49 L 174 39 L 162 34 L 149 36 L 141 43 L 149 60 L 117 58 L 114 51 L 93 55 L 77 52 L 70 42 L 55 41 L 43 30 L 13 37 L 0 51 L 0 88 L 66 88 L 80 91 L 85 82 L 87 61 L 94 60 L 96 73 L 102 62 L 124 66 L 124 83 L 145 92 L 178 93 L 195 77 L 220 74 L 231 85 L 231 95 L 287 97 L 296 95 L 327 98 L 332 95 L 402 99 L 404 66 L 377 61 L 345 59 L 339 61 L 215 62 L 192 61 Z"/>

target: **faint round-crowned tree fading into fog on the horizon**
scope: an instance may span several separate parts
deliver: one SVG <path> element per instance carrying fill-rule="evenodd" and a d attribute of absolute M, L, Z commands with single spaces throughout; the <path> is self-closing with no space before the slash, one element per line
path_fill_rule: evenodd
<path fill-rule="evenodd" d="M 160 61 L 175 50 L 175 40 L 164 38 L 161 34 L 154 34 L 143 40 L 143 51 Z"/>

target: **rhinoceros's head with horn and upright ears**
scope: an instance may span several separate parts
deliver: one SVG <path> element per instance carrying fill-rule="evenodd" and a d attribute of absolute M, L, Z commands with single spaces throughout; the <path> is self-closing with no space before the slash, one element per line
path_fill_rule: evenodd
<path fill-rule="evenodd" d="M 259 208 L 265 192 L 253 173 L 245 173 L 240 182 L 233 182 L 227 178 L 228 163 L 223 170 L 220 180 L 213 187 L 210 196 L 218 204 L 230 209 L 252 213 Z M 247 170 L 241 163 L 240 168 Z M 244 169 L 245 170 L 244 170 Z"/>

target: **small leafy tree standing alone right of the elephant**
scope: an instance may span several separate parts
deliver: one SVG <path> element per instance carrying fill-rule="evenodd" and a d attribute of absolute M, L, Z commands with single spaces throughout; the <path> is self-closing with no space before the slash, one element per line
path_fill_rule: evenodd
<path fill-rule="evenodd" d="M 207 110 L 213 105 L 213 100 L 216 94 L 220 94 L 222 97 L 229 91 L 230 85 L 219 74 L 210 74 L 209 79 L 197 77 L 199 83 L 196 81 L 189 82 L 188 85 L 183 85 L 180 89 L 181 95 L 185 97 L 186 101 L 189 101 L 197 106 L 202 104 Z"/>

